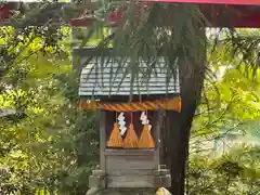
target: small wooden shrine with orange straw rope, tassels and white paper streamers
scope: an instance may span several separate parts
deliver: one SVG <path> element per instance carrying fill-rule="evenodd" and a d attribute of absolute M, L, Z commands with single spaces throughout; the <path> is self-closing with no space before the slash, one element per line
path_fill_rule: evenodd
<path fill-rule="evenodd" d="M 110 57 L 102 57 L 105 65 L 101 68 L 101 57 L 92 49 L 75 49 L 75 55 L 80 56 L 80 61 L 92 57 L 81 70 L 79 106 L 99 109 L 101 114 L 100 166 L 92 171 L 89 186 L 169 187 L 169 170 L 160 165 L 164 130 L 160 112 L 181 109 L 178 72 L 167 86 L 161 60 L 156 64 L 157 74 L 152 74 L 148 82 L 134 80 L 131 84 L 131 74 L 123 76 L 125 68 L 118 69 Z M 140 64 L 140 78 L 145 66 L 144 62 Z"/>

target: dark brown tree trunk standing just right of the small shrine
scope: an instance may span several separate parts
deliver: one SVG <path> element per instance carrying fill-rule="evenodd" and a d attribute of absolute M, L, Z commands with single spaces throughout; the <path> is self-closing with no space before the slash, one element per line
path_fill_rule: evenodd
<path fill-rule="evenodd" d="M 204 30 L 204 29 L 203 29 Z M 194 50 L 198 50 L 195 48 Z M 206 44 L 200 49 L 199 62 L 183 61 L 180 64 L 181 113 L 167 112 L 166 164 L 171 170 L 172 195 L 184 195 L 185 167 L 188 157 L 188 141 L 193 117 L 200 100 L 206 70 Z"/>

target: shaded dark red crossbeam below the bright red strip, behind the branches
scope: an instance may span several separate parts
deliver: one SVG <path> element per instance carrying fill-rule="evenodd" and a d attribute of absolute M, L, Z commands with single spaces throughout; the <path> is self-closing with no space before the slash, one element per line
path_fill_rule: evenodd
<path fill-rule="evenodd" d="M 107 15 L 108 25 L 116 26 L 123 11 L 110 12 Z M 209 27 L 260 28 L 260 6 L 200 4 L 200 11 L 208 20 Z M 93 18 L 70 21 L 73 26 L 88 26 L 92 23 Z"/>

